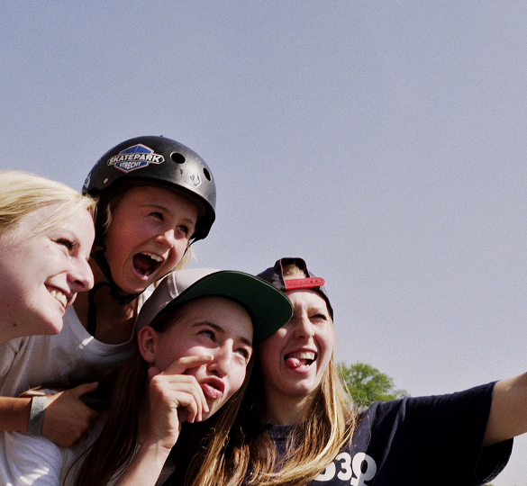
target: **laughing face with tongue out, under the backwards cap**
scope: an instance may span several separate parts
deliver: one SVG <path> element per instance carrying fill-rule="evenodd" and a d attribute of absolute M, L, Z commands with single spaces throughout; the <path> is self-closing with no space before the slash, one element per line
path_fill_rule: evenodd
<path fill-rule="evenodd" d="M 333 325 L 326 302 L 312 290 L 286 292 L 293 318 L 259 345 L 266 401 L 313 396 L 330 363 Z"/>

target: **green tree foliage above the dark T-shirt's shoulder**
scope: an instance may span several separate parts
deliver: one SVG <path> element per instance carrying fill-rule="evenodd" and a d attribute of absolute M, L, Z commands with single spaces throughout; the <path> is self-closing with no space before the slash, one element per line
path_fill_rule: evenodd
<path fill-rule="evenodd" d="M 339 373 L 359 410 L 369 407 L 374 401 L 390 401 L 408 396 L 404 390 L 395 389 L 392 378 L 371 365 L 340 364 Z"/>

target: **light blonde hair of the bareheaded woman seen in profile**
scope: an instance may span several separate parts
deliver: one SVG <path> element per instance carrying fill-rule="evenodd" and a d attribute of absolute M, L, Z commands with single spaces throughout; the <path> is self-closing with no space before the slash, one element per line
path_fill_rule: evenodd
<path fill-rule="evenodd" d="M 21 220 L 42 206 L 58 207 L 39 225 L 38 233 L 47 233 L 79 212 L 95 216 L 95 200 L 66 184 L 41 175 L 17 170 L 0 170 L 0 233 L 14 233 Z"/>

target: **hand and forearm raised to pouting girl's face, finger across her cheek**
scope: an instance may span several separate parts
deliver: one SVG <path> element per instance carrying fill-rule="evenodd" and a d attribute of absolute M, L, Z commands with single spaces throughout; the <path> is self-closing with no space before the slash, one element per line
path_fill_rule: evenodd
<path fill-rule="evenodd" d="M 211 359 L 212 356 L 181 358 L 160 374 L 156 368 L 150 368 L 148 432 L 138 454 L 115 486 L 155 485 L 177 442 L 181 423 L 201 421 L 208 411 L 201 386 L 194 376 L 183 373 Z"/>

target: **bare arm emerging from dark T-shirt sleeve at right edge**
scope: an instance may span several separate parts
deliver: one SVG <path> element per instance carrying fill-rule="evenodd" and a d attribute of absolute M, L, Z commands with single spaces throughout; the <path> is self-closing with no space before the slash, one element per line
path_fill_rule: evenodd
<path fill-rule="evenodd" d="M 495 384 L 484 446 L 527 432 L 527 374 Z"/>

